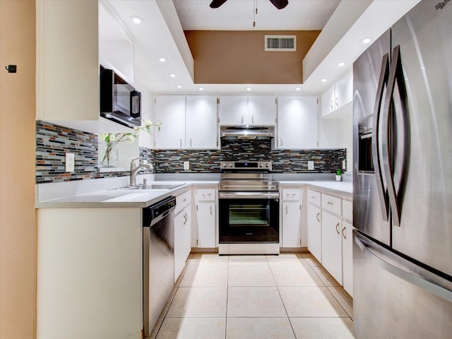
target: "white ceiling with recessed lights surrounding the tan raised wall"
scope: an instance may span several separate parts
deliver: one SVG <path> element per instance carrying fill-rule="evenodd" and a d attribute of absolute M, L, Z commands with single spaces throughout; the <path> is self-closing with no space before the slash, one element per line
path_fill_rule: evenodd
<path fill-rule="evenodd" d="M 227 0 L 215 9 L 208 6 L 210 0 L 100 0 L 99 35 L 100 40 L 123 39 L 134 45 L 134 76 L 129 78 L 152 93 L 200 93 L 199 88 L 203 93 L 321 93 L 368 47 L 362 38 L 375 40 L 419 1 L 289 0 L 278 10 L 268 0 Z M 258 14 L 253 18 L 255 5 Z M 131 16 L 143 18 L 143 23 L 133 24 Z M 322 32 L 303 60 L 303 84 L 231 85 L 194 83 L 184 30 Z"/>

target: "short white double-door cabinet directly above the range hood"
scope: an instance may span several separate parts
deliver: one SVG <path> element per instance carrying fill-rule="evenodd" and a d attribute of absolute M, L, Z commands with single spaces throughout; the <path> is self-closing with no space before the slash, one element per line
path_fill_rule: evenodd
<path fill-rule="evenodd" d="M 222 95 L 218 105 L 222 125 L 274 125 L 273 95 Z"/>

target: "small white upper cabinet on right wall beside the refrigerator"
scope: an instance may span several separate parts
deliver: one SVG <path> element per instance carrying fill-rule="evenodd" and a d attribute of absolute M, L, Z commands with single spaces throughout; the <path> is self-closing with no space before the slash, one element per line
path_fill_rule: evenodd
<path fill-rule="evenodd" d="M 340 78 L 321 95 L 322 118 L 341 119 L 351 114 L 353 101 L 353 72 Z M 349 105 L 350 104 L 350 105 Z M 350 109 L 347 107 L 350 106 Z"/>

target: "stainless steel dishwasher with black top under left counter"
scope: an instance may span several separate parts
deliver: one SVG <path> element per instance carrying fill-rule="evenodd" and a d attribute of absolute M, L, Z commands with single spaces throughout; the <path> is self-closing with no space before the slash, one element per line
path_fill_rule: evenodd
<path fill-rule="evenodd" d="M 143 327 L 148 337 L 174 287 L 174 208 L 169 196 L 143 208 Z"/>

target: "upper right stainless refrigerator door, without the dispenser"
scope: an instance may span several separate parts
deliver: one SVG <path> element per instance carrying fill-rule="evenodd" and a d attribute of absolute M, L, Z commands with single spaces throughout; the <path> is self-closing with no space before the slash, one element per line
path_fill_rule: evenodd
<path fill-rule="evenodd" d="M 400 57 L 400 65 L 396 67 L 393 60 L 392 69 L 398 75 L 391 104 L 396 123 L 392 127 L 394 156 L 390 164 L 396 191 L 396 201 L 391 201 L 393 249 L 449 276 L 452 276 L 451 18 L 452 3 L 444 1 L 441 8 L 436 1 L 421 1 L 393 25 L 393 58 Z M 401 81 L 406 88 L 405 98 L 400 93 Z M 387 93 L 387 99 L 390 94 Z"/>

